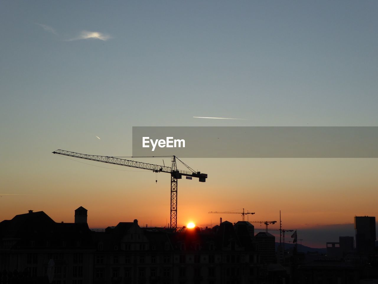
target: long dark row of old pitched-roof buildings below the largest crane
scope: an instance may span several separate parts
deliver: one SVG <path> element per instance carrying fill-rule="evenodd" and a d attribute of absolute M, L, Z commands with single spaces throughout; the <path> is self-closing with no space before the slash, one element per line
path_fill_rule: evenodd
<path fill-rule="evenodd" d="M 174 231 L 134 220 L 92 231 L 83 207 L 74 220 L 56 223 L 43 211 L 29 211 L 0 222 L 0 272 L 7 279 L 0 283 L 48 283 L 49 269 L 56 284 L 231 284 L 262 277 L 248 222 Z"/>

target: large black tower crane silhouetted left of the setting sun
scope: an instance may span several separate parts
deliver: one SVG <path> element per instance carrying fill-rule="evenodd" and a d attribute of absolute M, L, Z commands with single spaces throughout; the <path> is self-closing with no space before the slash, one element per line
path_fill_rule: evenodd
<path fill-rule="evenodd" d="M 108 164 L 123 165 L 126 167 L 151 170 L 154 173 L 160 173 L 160 172 L 170 173 L 170 176 L 171 176 L 170 178 L 170 228 L 173 228 L 173 229 L 177 228 L 177 179 L 181 179 L 182 176 L 186 176 L 188 179 L 198 178 L 200 182 L 204 183 L 206 181 L 206 178 L 208 178 L 207 173 L 196 172 L 195 170 L 193 170 L 191 167 L 186 165 L 183 161 L 181 161 L 176 156 L 166 156 L 166 157 L 172 157 L 171 167 L 166 167 L 165 165 L 161 166 L 161 165 L 154 165 L 154 164 L 121 159 L 121 158 L 128 158 L 128 157 L 108 157 L 108 156 L 87 155 L 87 154 L 80 154 L 80 153 L 75 153 L 75 152 L 70 152 L 70 151 L 65 151 L 65 150 L 60 150 L 60 149 L 52 153 L 64 155 L 64 156 L 70 156 L 74 158 L 103 162 L 103 163 L 108 163 Z M 181 163 L 183 163 L 187 167 L 188 170 L 177 170 L 176 159 L 178 159 Z"/>

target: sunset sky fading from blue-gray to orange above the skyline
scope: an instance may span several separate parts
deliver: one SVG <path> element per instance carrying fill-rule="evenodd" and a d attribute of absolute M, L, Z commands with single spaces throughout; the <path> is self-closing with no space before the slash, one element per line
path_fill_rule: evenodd
<path fill-rule="evenodd" d="M 91 227 L 164 226 L 169 175 L 156 184 L 51 154 L 130 156 L 132 126 L 378 126 L 377 12 L 376 1 L 0 2 L 0 220 L 33 209 L 73 222 L 84 206 Z M 209 178 L 179 181 L 179 226 L 281 210 L 302 239 L 378 215 L 377 159 L 185 162 Z"/>

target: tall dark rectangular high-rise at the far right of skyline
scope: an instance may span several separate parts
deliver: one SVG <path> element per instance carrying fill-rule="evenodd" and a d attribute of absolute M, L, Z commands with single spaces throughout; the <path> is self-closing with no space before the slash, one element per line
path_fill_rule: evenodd
<path fill-rule="evenodd" d="M 375 217 L 355 216 L 356 251 L 370 254 L 375 249 Z"/>

